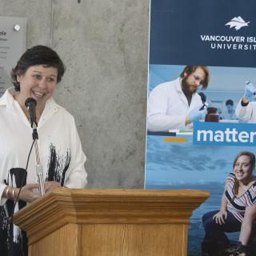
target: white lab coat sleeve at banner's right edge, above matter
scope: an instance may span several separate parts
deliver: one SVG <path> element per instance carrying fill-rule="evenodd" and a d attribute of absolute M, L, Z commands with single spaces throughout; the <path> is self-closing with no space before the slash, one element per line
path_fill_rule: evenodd
<path fill-rule="evenodd" d="M 242 99 L 238 102 L 238 106 L 235 109 L 235 114 L 239 120 L 256 122 L 256 102 L 249 102 L 247 106 L 241 105 Z"/>

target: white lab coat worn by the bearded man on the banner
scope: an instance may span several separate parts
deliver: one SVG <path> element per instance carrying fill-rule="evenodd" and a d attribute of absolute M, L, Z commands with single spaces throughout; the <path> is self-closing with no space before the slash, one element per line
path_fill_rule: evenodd
<path fill-rule="evenodd" d="M 191 128 L 191 124 L 186 126 L 186 116 L 191 110 L 201 107 L 202 99 L 197 93 L 193 94 L 188 105 L 179 78 L 162 83 L 152 90 L 148 99 L 147 129 L 166 131 Z"/>

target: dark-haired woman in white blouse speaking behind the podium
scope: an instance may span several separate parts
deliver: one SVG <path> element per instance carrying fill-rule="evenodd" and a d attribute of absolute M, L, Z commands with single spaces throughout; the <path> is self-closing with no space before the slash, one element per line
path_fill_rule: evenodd
<path fill-rule="evenodd" d="M 26 98 L 34 98 L 38 145 L 46 193 L 58 186 L 86 186 L 86 156 L 82 151 L 74 118 L 54 102 L 52 94 L 65 68 L 58 54 L 46 46 L 26 50 L 12 70 L 14 87 L 0 98 L 0 251 L 1 255 L 26 255 L 26 235 L 8 218 L 15 210 L 39 197 L 34 148 L 26 171 L 32 140 Z M 22 184 L 22 177 L 25 182 Z"/>

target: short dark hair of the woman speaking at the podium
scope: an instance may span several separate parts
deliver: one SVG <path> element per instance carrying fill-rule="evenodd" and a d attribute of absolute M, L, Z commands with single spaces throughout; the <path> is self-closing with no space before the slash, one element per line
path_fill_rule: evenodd
<path fill-rule="evenodd" d="M 37 65 L 56 67 L 58 70 L 57 82 L 61 82 L 66 69 L 61 58 L 59 58 L 58 54 L 50 47 L 34 46 L 22 54 L 17 65 L 11 70 L 10 76 L 15 90 L 20 91 L 20 84 L 17 80 L 17 76 L 25 74 L 30 66 Z"/>

